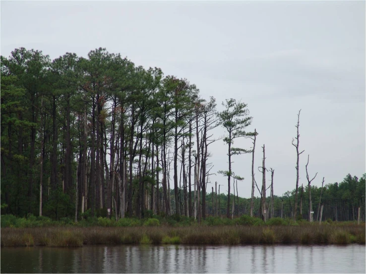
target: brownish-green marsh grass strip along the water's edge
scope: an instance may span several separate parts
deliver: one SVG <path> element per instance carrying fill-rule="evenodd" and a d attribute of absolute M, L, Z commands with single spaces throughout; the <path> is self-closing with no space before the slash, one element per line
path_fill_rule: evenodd
<path fill-rule="evenodd" d="M 365 226 L 1 228 L 1 246 L 91 244 L 365 244 Z"/>

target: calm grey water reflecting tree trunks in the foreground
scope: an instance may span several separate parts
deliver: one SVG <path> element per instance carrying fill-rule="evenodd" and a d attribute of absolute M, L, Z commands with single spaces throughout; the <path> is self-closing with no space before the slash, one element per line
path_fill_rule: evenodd
<path fill-rule="evenodd" d="M 365 246 L 1 248 L 1 273 L 365 273 Z"/>

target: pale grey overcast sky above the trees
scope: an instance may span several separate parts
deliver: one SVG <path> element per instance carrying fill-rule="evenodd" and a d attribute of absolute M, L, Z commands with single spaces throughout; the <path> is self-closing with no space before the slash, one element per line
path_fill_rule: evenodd
<path fill-rule="evenodd" d="M 218 111 L 228 98 L 246 103 L 253 117 L 247 131 L 258 132 L 255 178 L 262 182 L 265 144 L 275 195 L 296 187 L 291 143 L 300 109 L 300 185 L 307 184 L 307 155 L 310 179 L 318 173 L 311 185 L 366 171 L 365 1 L 1 0 L 0 15 L 3 56 L 21 46 L 52 59 L 106 47 L 186 78 L 203 98 L 216 98 Z M 252 143 L 243 138 L 234 146 Z M 217 172 L 228 169 L 227 146 L 217 140 L 209 150 L 216 175 L 208 191 L 218 182 L 224 193 L 227 178 Z M 233 172 L 244 177 L 239 196 L 250 197 L 251 154 L 233 161 Z"/>

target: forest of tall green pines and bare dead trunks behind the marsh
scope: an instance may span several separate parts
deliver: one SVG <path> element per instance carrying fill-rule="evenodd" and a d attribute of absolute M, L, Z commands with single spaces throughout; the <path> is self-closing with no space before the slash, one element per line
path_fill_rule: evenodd
<path fill-rule="evenodd" d="M 299 185 L 294 171 L 294 190 L 277 196 L 273 189 L 281 182 L 265 167 L 263 145 L 258 186 L 253 168 L 260 130 L 246 131 L 252 117 L 244 102 L 228 98 L 221 112 L 216 104 L 187 79 L 137 66 L 105 48 L 55 60 L 39 50 L 14 49 L 1 56 L 1 214 L 75 222 L 86 215 L 355 221 L 360 214 L 365 221 L 365 174 L 316 187 L 307 156 L 307 184 Z M 300 111 L 293 141 L 297 170 L 304 152 L 299 121 Z M 212 133 L 216 127 L 225 132 L 222 140 Z M 253 146 L 234 147 L 241 138 L 251 138 Z M 218 183 L 208 188 L 214 141 L 227 147 L 228 167 L 219 173 L 229 195 Z M 245 153 L 253 160 L 250 198 L 238 196 L 242 178 L 231 167 Z"/>

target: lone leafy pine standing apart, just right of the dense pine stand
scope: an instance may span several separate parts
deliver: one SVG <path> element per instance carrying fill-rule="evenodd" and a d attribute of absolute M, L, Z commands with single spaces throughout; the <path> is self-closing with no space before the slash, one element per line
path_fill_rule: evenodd
<path fill-rule="evenodd" d="M 226 129 L 228 135 L 224 137 L 224 142 L 228 144 L 228 157 L 229 157 L 229 170 L 220 171 L 228 177 L 228 205 L 227 205 L 227 218 L 230 218 L 230 178 L 232 177 L 232 161 L 231 157 L 234 155 L 240 155 L 249 153 L 251 150 L 244 148 L 232 147 L 234 140 L 240 137 L 247 137 L 254 135 L 254 133 L 247 133 L 244 129 L 251 124 L 252 117 L 249 116 L 249 110 L 246 108 L 246 104 L 237 102 L 236 99 L 226 99 L 226 103 L 222 103 L 225 109 L 218 113 L 218 118 L 221 126 Z M 242 179 L 237 177 L 237 179 Z"/>

